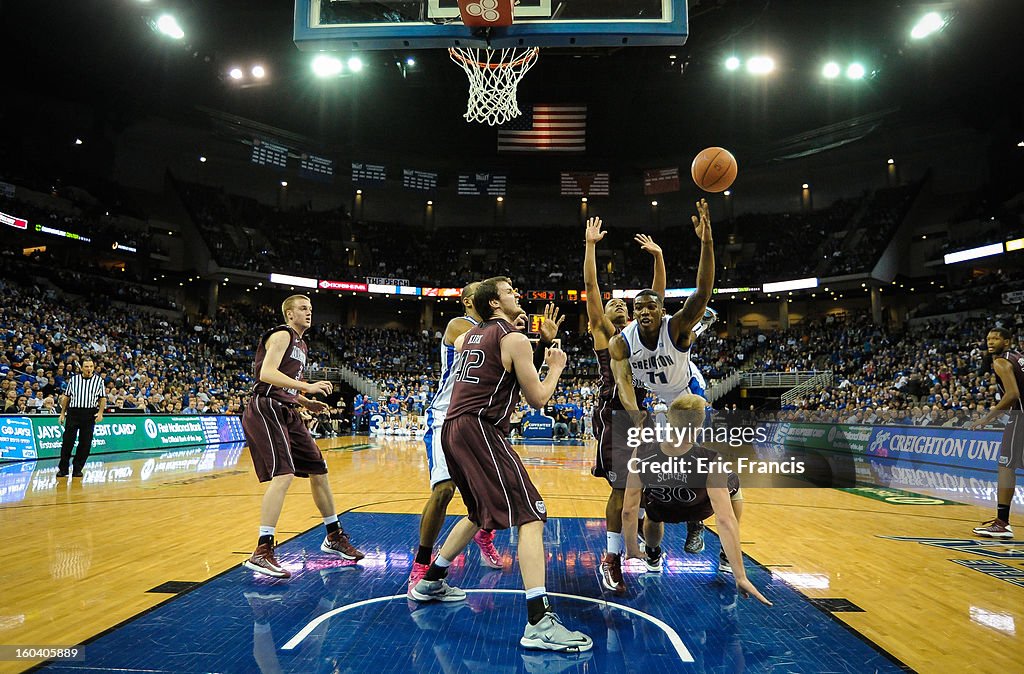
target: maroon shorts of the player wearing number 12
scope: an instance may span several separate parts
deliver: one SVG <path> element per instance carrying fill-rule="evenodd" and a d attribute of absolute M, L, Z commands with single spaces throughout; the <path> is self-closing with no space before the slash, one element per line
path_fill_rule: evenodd
<path fill-rule="evenodd" d="M 544 499 L 494 424 L 472 415 L 445 419 L 441 447 L 470 521 L 483 529 L 547 521 Z"/>

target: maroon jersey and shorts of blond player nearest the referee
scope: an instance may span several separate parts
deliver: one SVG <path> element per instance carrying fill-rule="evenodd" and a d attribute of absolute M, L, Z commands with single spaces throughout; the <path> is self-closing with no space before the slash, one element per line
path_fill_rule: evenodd
<path fill-rule="evenodd" d="M 257 382 L 252 398 L 242 414 L 242 430 L 249 444 L 256 476 L 261 482 L 276 475 L 308 477 L 327 473 L 324 455 L 299 416 L 299 391 L 259 381 L 266 359 L 266 340 L 281 331 L 288 332 L 292 341 L 285 349 L 278 369 L 292 379 L 302 381 L 302 369 L 306 365 L 306 341 L 288 326 L 278 326 L 260 337 L 253 366 Z"/>

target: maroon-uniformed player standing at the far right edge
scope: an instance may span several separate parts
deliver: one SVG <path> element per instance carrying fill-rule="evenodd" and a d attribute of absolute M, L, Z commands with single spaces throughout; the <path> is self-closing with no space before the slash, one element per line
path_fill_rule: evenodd
<path fill-rule="evenodd" d="M 1010 422 L 1002 431 L 1002 444 L 999 446 L 995 519 L 975 526 L 974 534 L 985 538 L 1010 539 L 1014 537 L 1014 530 L 1010 528 L 1010 504 L 1017 488 L 1017 471 L 1024 469 L 1024 420 L 1021 419 L 1024 412 L 1024 403 L 1021 402 L 1021 391 L 1024 390 L 1024 354 L 1010 350 L 1013 336 L 1006 328 L 992 328 L 988 331 L 986 341 L 1002 398 L 988 414 L 974 423 L 972 428 L 987 426 L 1004 414 L 1010 415 Z"/>

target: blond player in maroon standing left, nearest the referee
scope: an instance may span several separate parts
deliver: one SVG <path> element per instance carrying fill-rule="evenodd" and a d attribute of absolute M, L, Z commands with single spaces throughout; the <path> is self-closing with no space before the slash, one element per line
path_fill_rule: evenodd
<path fill-rule="evenodd" d="M 305 295 L 292 295 L 282 303 L 281 311 L 285 324 L 263 333 L 256 347 L 257 382 L 242 415 L 256 476 L 261 482 L 270 482 L 263 494 L 259 541 L 243 565 L 266 576 L 289 578 L 291 573 L 273 555 L 273 534 L 285 494 L 296 476 L 309 478 L 313 502 L 324 516 L 327 538 L 321 550 L 356 561 L 366 555 L 349 543 L 338 522 L 327 462 L 299 416 L 300 407 L 313 414 L 327 410 L 327 404 L 311 396 L 330 395 L 333 390 L 329 381 L 302 381 L 308 352 L 302 336 L 312 325 L 312 304 Z"/>

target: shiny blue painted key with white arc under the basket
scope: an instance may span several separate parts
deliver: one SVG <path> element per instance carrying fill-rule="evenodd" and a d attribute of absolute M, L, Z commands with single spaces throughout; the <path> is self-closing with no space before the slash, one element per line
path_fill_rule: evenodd
<path fill-rule="evenodd" d="M 455 521 L 449 518 L 447 525 Z M 415 515 L 353 512 L 358 564 L 319 553 L 319 526 L 279 548 L 287 582 L 241 566 L 185 591 L 86 645 L 86 663 L 48 670 L 150 672 L 888 672 L 903 668 L 769 572 L 752 580 L 775 602 L 737 597 L 717 572 L 719 545 L 700 555 L 667 537 L 660 575 L 629 567 L 629 593 L 603 595 L 599 519 L 552 519 L 547 587 L 556 609 L 594 637 L 593 651 L 563 656 L 519 647 L 525 616 L 512 532 L 496 543 L 505 567 L 471 548 L 453 565 L 465 602 L 404 596 Z M 240 551 L 242 553 L 242 551 Z M 239 560 L 244 558 L 239 555 Z M 641 566 L 642 567 L 642 566 Z M 830 607 L 833 610 L 835 606 Z"/>

